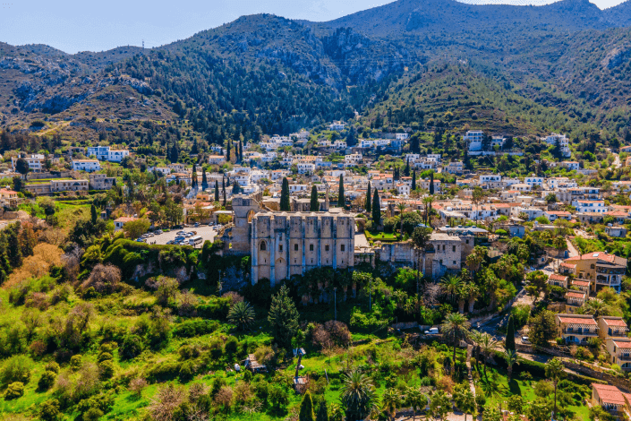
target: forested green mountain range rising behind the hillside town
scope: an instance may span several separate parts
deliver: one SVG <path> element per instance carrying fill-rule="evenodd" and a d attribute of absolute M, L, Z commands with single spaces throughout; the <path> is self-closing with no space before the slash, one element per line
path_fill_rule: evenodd
<path fill-rule="evenodd" d="M 446 66 L 480 88 L 465 94 L 470 99 L 451 92 L 456 101 L 417 106 L 424 116 L 457 116 L 458 125 L 448 127 L 618 133 L 631 125 L 629 22 L 628 1 L 601 11 L 585 0 L 536 7 L 397 0 L 328 22 L 243 16 L 150 50 L 68 55 L 0 44 L 0 121 L 16 131 L 45 120 L 38 133 L 80 141 L 117 133 L 132 146 L 162 148 L 174 142 L 172 130 L 178 139 L 188 133 L 223 142 L 290 133 L 355 111 L 397 124 L 387 110 L 436 86 L 434 71 Z M 503 99 L 484 105 L 482 91 L 501 91 Z M 536 116 L 508 107 L 515 102 Z M 133 130 L 138 121 L 164 138 L 145 138 L 143 125 Z"/>

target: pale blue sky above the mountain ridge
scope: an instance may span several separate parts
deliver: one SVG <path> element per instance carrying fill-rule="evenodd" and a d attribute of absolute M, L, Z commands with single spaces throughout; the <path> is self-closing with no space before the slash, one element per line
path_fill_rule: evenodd
<path fill-rule="evenodd" d="M 0 41 L 47 44 L 66 53 L 127 45 L 159 47 L 215 28 L 244 14 L 273 13 L 289 19 L 330 21 L 388 0 L 0 0 Z M 518 0 L 464 0 L 510 3 Z M 550 0 L 521 0 L 530 4 Z M 592 0 L 601 9 L 623 0 Z"/>

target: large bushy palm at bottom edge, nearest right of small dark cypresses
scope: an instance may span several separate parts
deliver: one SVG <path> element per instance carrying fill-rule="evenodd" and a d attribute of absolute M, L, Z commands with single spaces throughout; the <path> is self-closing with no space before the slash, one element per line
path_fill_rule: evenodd
<path fill-rule="evenodd" d="M 371 378 L 354 369 L 345 374 L 340 400 L 346 408 L 346 418 L 363 419 L 375 408 L 375 392 Z"/>

